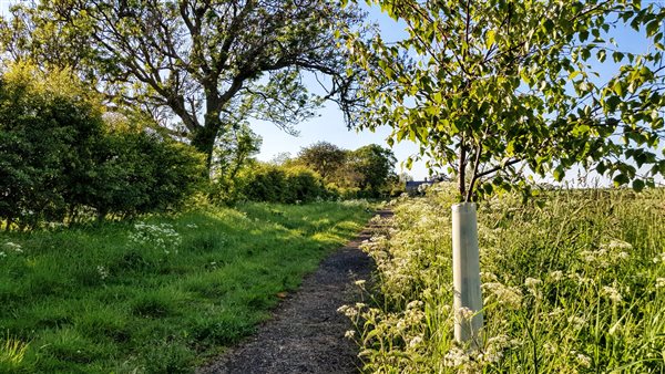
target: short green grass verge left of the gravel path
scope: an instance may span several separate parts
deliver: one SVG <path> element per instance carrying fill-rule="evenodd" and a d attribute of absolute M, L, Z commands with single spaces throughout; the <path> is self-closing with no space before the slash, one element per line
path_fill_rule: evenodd
<path fill-rule="evenodd" d="M 0 372 L 192 372 L 252 334 L 365 208 L 246 204 L 2 233 Z"/>

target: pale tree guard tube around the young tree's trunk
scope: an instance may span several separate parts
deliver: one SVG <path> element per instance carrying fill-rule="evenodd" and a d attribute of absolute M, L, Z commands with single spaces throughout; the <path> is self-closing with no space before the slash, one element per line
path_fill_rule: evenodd
<path fill-rule="evenodd" d="M 452 206 L 452 278 L 454 339 L 478 347 L 483 319 L 478 224 L 473 202 Z"/>

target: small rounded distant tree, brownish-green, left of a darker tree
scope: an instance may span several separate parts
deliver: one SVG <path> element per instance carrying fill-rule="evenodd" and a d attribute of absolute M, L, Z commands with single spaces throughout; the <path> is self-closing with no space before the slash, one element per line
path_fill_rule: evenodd
<path fill-rule="evenodd" d="M 348 152 L 328 142 L 318 142 L 304 147 L 297 162 L 317 172 L 326 181 L 335 176 L 346 163 Z"/>

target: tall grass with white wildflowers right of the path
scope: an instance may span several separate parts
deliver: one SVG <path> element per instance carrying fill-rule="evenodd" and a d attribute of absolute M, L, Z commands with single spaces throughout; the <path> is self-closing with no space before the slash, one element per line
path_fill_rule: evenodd
<path fill-rule="evenodd" d="M 453 202 L 443 185 L 400 199 L 392 228 L 366 246 L 378 289 L 342 308 L 366 372 L 665 372 L 665 190 L 482 202 L 479 351 L 452 343 Z"/>

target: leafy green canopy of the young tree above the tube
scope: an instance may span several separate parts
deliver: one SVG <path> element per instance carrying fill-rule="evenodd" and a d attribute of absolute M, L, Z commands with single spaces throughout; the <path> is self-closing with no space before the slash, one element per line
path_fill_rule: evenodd
<path fill-rule="evenodd" d="M 575 165 L 641 189 L 665 174 L 665 12 L 640 1 L 372 0 L 408 37 L 349 39 L 367 71 L 360 125 L 448 166 L 469 201 Z M 644 54 L 612 38 L 632 27 Z M 374 69 L 378 63 L 381 69 Z M 614 75 L 602 76 L 605 64 Z M 648 175 L 640 175 L 640 169 Z"/>

